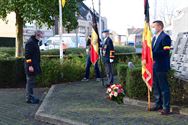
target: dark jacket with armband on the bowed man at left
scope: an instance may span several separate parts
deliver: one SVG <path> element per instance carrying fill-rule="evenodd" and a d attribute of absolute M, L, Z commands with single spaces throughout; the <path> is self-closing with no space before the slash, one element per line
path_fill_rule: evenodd
<path fill-rule="evenodd" d="M 35 36 L 31 36 L 25 45 L 25 72 L 28 75 L 37 75 L 41 73 L 38 42 L 39 40 L 37 40 Z M 29 66 L 33 66 L 34 72 L 29 72 Z"/>

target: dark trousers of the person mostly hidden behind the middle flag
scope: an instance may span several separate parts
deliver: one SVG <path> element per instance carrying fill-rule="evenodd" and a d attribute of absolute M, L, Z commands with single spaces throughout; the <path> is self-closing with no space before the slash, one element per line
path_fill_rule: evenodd
<path fill-rule="evenodd" d="M 90 56 L 88 56 L 87 59 L 86 59 L 86 73 L 85 73 L 85 78 L 87 78 L 87 79 L 89 79 L 91 64 L 92 63 L 91 63 Z M 95 63 L 94 69 L 95 69 L 95 77 L 100 78 L 100 71 L 99 71 L 99 67 L 98 67 L 98 62 Z"/>

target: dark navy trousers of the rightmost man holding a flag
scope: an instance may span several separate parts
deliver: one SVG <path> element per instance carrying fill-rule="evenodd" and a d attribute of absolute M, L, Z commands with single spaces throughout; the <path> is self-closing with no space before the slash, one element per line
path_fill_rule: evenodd
<path fill-rule="evenodd" d="M 155 106 L 163 107 L 163 109 L 170 111 L 170 89 L 167 81 L 167 72 L 153 70 L 153 75 Z"/>

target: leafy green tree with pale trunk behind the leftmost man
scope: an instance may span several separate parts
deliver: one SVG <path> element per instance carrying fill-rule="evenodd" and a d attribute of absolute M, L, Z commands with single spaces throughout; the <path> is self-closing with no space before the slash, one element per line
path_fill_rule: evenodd
<path fill-rule="evenodd" d="M 82 0 L 67 0 L 63 8 L 63 26 L 71 31 L 78 26 L 75 13 L 77 2 Z M 16 14 L 16 57 L 23 56 L 23 26 L 34 20 L 41 26 L 53 26 L 55 17 L 59 15 L 58 0 L 0 0 L 0 18 L 6 19 L 11 12 Z"/>

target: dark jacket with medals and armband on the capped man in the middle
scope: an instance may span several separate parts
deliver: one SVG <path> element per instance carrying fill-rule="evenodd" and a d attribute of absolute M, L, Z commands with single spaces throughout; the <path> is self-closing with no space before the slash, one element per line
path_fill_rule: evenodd
<path fill-rule="evenodd" d="M 114 45 L 112 39 L 108 37 L 102 45 L 102 56 L 104 63 L 110 63 L 110 59 L 114 59 Z"/>

